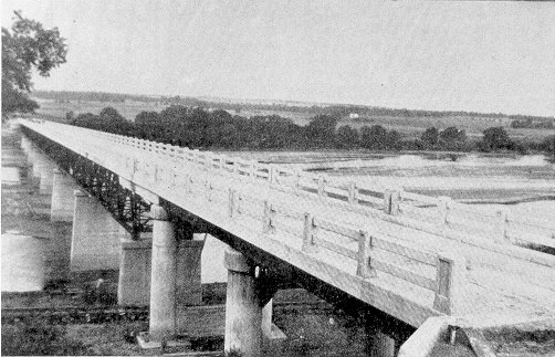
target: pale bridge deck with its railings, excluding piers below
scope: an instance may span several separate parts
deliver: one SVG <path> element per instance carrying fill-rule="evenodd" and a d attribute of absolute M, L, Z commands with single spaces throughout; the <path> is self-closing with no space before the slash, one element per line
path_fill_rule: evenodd
<path fill-rule="evenodd" d="M 454 208 L 472 213 L 460 203 L 426 210 L 407 202 L 437 199 L 374 195 L 321 176 L 55 123 L 22 125 L 115 172 L 146 200 L 161 197 L 412 326 L 446 314 L 470 325 L 555 317 L 555 256 L 520 246 L 552 248 L 549 222 L 526 222 L 528 233 L 519 232 L 520 218 L 500 228 L 496 217 L 512 218 L 492 212 L 492 229 L 477 233 L 480 219 L 467 218 L 470 231 L 452 219 Z M 409 214 L 415 210 L 422 218 Z M 441 224 L 426 221 L 430 213 Z"/>

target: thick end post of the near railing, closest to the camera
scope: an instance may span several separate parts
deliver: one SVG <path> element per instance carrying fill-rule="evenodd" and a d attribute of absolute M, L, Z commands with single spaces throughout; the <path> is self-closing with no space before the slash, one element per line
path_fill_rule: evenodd
<path fill-rule="evenodd" d="M 460 314 L 464 307 L 467 261 L 453 253 L 438 253 L 433 308 L 447 315 Z"/>

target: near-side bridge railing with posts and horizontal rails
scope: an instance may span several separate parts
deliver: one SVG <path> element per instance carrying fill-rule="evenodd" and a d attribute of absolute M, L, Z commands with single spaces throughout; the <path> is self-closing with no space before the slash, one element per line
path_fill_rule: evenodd
<path fill-rule="evenodd" d="M 28 127 L 33 129 L 31 125 Z M 35 128 L 35 130 L 38 130 L 38 128 Z M 67 146 L 70 149 L 76 150 L 78 154 L 78 143 L 76 143 L 76 136 L 74 135 L 78 133 L 78 130 L 65 130 L 65 133 L 57 130 L 40 130 L 39 133 L 46 137 L 50 134 L 52 139 L 60 140 L 61 144 Z M 102 136 L 96 133 L 91 134 L 93 137 L 102 138 Z M 114 140 L 122 139 L 121 137 L 114 136 L 112 136 L 112 138 Z M 125 139 L 125 141 L 128 141 L 128 139 Z M 163 147 L 149 143 L 138 143 L 142 147 L 149 147 L 155 150 L 176 150 L 171 147 Z M 103 146 L 104 143 L 97 144 L 100 150 Z M 105 154 L 108 155 L 108 153 Z M 197 158 L 210 156 L 210 153 L 196 154 L 195 156 Z M 165 175 L 169 174 L 174 179 L 177 179 L 179 178 L 178 175 L 184 175 L 186 172 L 185 170 L 179 170 L 179 168 L 172 168 L 172 162 L 169 160 L 160 164 L 149 164 L 148 159 L 138 161 L 132 158 L 132 160 L 129 160 L 128 157 L 124 157 L 123 155 L 108 156 L 108 158 L 109 160 L 106 159 L 106 162 L 112 160 L 117 161 L 114 164 L 114 167 L 123 167 L 126 170 L 130 169 L 132 174 L 140 171 L 142 176 L 137 178 L 139 180 L 138 183 L 146 183 L 143 180 L 147 180 L 149 181 L 148 183 L 153 183 L 151 187 L 156 187 L 159 177 L 165 177 Z M 220 157 L 220 159 L 228 160 L 223 157 Z M 124 164 L 121 165 L 121 162 Z M 203 158 L 199 158 L 196 162 L 199 165 L 207 165 L 208 161 Z M 233 166 L 235 166 L 237 162 L 238 161 L 233 161 Z M 249 165 L 252 162 L 249 162 Z M 129 167 L 130 165 L 132 167 Z M 261 165 L 260 167 L 262 169 L 268 169 L 269 177 L 271 177 L 270 172 L 273 171 L 272 166 Z M 175 170 L 175 172 L 171 172 L 171 170 Z M 116 174 L 125 175 L 127 172 Z M 234 174 L 234 171 L 230 174 Z M 457 303 L 455 300 L 460 300 L 460 296 L 455 295 L 454 291 L 460 291 L 460 286 L 465 284 L 463 271 L 467 269 L 467 264 L 460 259 L 453 259 L 444 253 L 434 253 L 409 242 L 399 242 L 379 232 L 358 229 L 344 222 L 331 221 L 313 212 L 297 211 L 282 203 L 261 200 L 252 192 L 234 190 L 227 186 L 218 187 L 203 177 L 197 178 L 189 175 L 187 180 L 180 180 L 179 182 L 180 186 L 189 190 L 189 192 L 200 192 L 200 195 L 206 195 L 210 201 L 221 201 L 221 203 L 228 207 L 229 217 L 234 218 L 235 221 L 238 218 L 240 219 L 241 216 L 254 218 L 260 222 L 259 227 L 261 233 L 270 239 L 278 239 L 278 237 L 283 237 L 284 234 L 293 235 L 302 240 L 302 251 L 305 253 L 317 253 L 318 250 L 323 249 L 354 261 L 356 263 L 355 274 L 362 280 L 371 280 L 376 277 L 377 274 L 386 274 L 386 276 L 392 276 L 394 279 L 402 280 L 406 283 L 430 291 L 434 296 L 430 305 L 440 313 L 451 314 L 453 305 Z M 145 185 L 145 187 L 149 186 Z M 198 190 L 198 188 L 200 188 L 200 190 Z M 241 202 L 245 201 L 250 201 L 251 204 L 244 207 L 244 203 Z M 253 216 L 252 211 L 256 211 L 258 213 Z M 300 224 L 281 222 L 281 219 L 284 218 L 294 220 Z M 341 244 L 341 242 L 345 240 L 347 244 Z M 380 256 L 384 254 L 388 254 L 389 256 L 396 255 L 398 259 L 402 259 L 404 264 L 395 263 L 395 260 L 386 260 Z M 411 264 L 413 266 L 411 270 L 402 266 L 408 264 L 408 261 L 412 262 Z M 421 269 L 416 269 L 417 266 L 428 266 L 428 274 L 423 273 Z M 434 272 L 432 273 L 432 275 L 434 275 L 433 277 L 430 277 L 430 272 Z"/>

